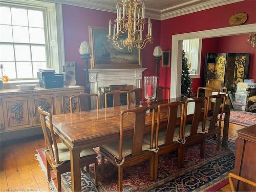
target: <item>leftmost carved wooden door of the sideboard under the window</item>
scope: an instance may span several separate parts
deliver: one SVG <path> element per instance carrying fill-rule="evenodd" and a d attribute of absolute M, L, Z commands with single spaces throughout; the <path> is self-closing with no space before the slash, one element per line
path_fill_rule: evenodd
<path fill-rule="evenodd" d="M 5 130 L 15 130 L 32 126 L 32 116 L 28 97 L 3 98 Z"/>

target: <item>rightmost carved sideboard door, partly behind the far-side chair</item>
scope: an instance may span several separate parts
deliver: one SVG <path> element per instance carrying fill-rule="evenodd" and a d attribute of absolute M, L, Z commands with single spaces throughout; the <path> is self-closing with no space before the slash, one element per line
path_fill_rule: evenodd
<path fill-rule="evenodd" d="M 62 106 L 61 106 L 61 112 L 63 113 L 63 114 L 65 114 L 65 113 L 70 113 L 70 101 L 69 101 L 69 99 L 70 99 L 70 97 L 71 96 L 74 96 L 74 95 L 77 95 L 78 93 L 67 93 L 67 94 L 65 94 L 65 95 L 61 95 L 60 97 L 60 99 L 61 99 L 61 103 L 62 103 Z M 76 98 L 76 99 L 74 99 L 73 101 L 72 101 L 72 111 L 73 112 L 78 112 L 78 99 Z"/>

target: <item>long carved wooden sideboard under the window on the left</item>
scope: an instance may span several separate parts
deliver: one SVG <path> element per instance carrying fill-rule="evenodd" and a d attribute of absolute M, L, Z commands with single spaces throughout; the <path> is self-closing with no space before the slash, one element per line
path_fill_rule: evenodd
<path fill-rule="evenodd" d="M 70 112 L 69 98 L 84 92 L 84 87 L 35 88 L 30 91 L 6 89 L 0 91 L 0 141 L 28 137 L 42 133 L 38 106 L 52 114 Z M 73 101 L 77 110 L 77 100 Z"/>

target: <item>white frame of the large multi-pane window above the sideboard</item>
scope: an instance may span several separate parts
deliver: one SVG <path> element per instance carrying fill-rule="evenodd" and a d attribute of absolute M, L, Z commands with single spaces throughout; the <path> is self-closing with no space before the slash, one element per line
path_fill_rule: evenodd
<path fill-rule="evenodd" d="M 33 0 L 8 0 L 0 2 L 0 6 L 10 6 L 24 9 L 34 9 L 43 11 L 44 14 L 44 28 L 46 39 L 46 56 L 47 66 L 54 68 L 58 73 L 61 73 L 61 68 L 65 64 L 65 48 L 63 35 L 63 19 L 62 19 L 62 4 L 48 3 Z M 51 19 L 51 20 L 50 20 Z M 51 33 L 52 32 L 52 33 Z M 54 39 L 54 49 L 51 47 L 51 38 Z M 15 44 L 15 42 L 10 42 Z M 15 79 L 10 80 L 5 84 L 17 84 L 20 82 L 38 82 L 35 78 L 30 79 Z M 9 87 L 6 86 L 8 89 Z"/>

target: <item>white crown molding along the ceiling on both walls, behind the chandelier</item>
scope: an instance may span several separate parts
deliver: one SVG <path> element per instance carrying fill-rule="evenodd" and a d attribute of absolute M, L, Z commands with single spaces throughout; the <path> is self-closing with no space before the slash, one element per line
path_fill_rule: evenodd
<path fill-rule="evenodd" d="M 39 0 L 42 1 L 42 0 Z M 100 11 L 107 11 L 107 12 L 116 12 L 116 2 L 117 0 L 44 0 L 44 2 L 51 2 L 51 3 L 62 3 L 67 5 L 73 5 L 78 7 L 84 7 L 89 9 L 95 9 Z M 200 0 L 193 0 L 191 2 L 187 2 L 184 4 L 180 4 L 173 7 L 168 7 L 163 10 L 157 10 L 152 8 L 146 8 L 145 16 L 147 18 L 152 18 L 156 20 L 165 20 L 168 18 L 173 18 L 181 15 L 185 15 L 188 13 L 194 13 L 197 11 L 202 11 L 205 9 L 210 9 L 218 6 L 223 6 L 227 4 L 237 3 L 244 0 L 209 0 L 204 3 L 200 3 L 197 5 L 191 5 L 189 4 L 199 2 Z M 186 7 L 184 7 L 186 6 Z M 177 9 L 178 7 L 183 7 L 181 9 Z M 175 9 L 172 11 L 172 9 Z"/>

